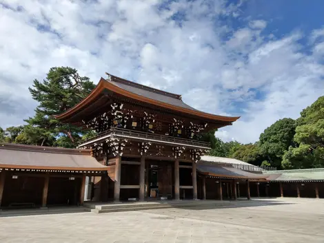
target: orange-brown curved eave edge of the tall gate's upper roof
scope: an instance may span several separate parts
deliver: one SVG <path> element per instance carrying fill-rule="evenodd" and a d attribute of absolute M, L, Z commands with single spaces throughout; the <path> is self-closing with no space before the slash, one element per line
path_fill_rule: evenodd
<path fill-rule="evenodd" d="M 114 77 L 114 76 L 112 76 Z M 97 96 L 99 96 L 101 94 L 101 92 L 103 92 L 104 89 L 109 89 L 112 92 L 115 92 L 117 94 L 121 94 L 123 96 L 127 96 L 129 98 L 133 98 L 137 101 L 142 101 L 144 103 L 150 103 L 152 105 L 157 105 L 159 107 L 163 107 L 163 108 L 167 108 L 167 109 L 172 109 L 176 112 L 183 112 L 185 114 L 190 114 L 190 115 L 194 115 L 194 116 L 199 116 L 201 118 L 207 118 L 210 120 L 221 120 L 224 122 L 234 122 L 237 119 L 240 118 L 240 116 L 218 116 L 218 115 L 214 115 L 214 114 L 209 114 L 209 113 L 205 113 L 205 112 L 201 112 L 198 110 L 192 110 L 192 109 L 187 109 L 184 107 L 179 107 L 176 105 L 171 105 L 168 103 L 164 103 L 161 101 L 155 101 L 152 98 L 147 98 L 145 96 L 141 96 L 139 94 L 135 94 L 132 92 L 129 92 L 125 89 L 122 89 L 121 87 L 118 87 L 117 85 L 114 85 L 108 81 L 106 81 L 104 78 L 101 78 L 97 87 L 95 87 L 92 92 L 85 97 L 80 103 L 78 103 L 77 105 L 75 105 L 74 107 L 72 107 L 71 109 L 69 109 L 68 111 L 64 112 L 63 114 L 59 114 L 54 116 L 55 118 L 61 120 L 64 118 L 68 118 L 68 116 L 74 114 L 74 112 L 77 112 L 79 109 L 82 109 L 85 105 L 88 105 L 89 103 L 91 103 L 92 101 L 94 101 Z"/>

